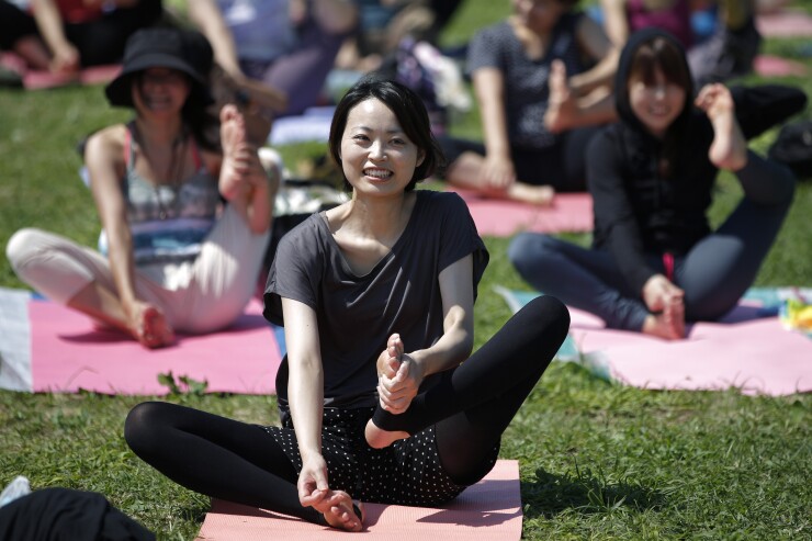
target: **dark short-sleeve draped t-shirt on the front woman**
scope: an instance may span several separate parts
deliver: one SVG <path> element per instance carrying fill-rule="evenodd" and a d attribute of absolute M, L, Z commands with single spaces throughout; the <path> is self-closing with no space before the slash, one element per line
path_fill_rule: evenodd
<path fill-rule="evenodd" d="M 264 293 L 264 316 L 284 325 L 282 297 L 317 315 L 325 405 L 374 406 L 377 356 L 398 333 L 407 351 L 435 343 L 443 333 L 440 272 L 469 253 L 474 295 L 488 262 L 465 202 L 454 193 L 418 190 L 401 237 L 368 274 L 352 272 L 322 213 L 280 240 Z M 277 375 L 287 402 L 287 358 Z"/>

